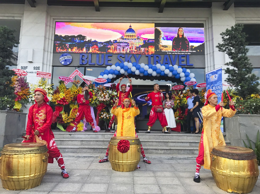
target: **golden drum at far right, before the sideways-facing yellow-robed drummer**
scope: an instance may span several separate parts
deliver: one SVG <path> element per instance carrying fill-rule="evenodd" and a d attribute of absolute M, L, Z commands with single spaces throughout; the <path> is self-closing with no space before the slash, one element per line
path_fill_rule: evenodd
<path fill-rule="evenodd" d="M 229 193 L 251 192 L 259 175 L 255 152 L 238 146 L 214 147 L 210 170 L 218 188 Z"/>

